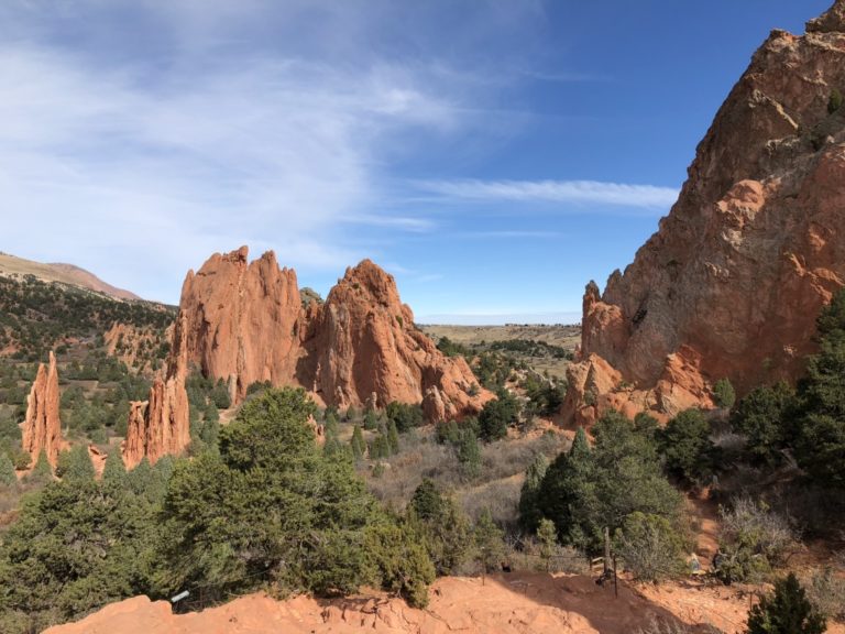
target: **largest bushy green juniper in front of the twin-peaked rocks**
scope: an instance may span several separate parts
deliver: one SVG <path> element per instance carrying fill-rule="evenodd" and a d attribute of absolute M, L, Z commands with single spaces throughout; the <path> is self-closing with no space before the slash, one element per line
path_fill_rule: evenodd
<path fill-rule="evenodd" d="M 394 560 L 365 548 L 369 529 L 392 520 L 351 460 L 319 450 L 314 413 L 301 389 L 267 390 L 221 429 L 219 456 L 176 466 L 162 512 L 165 590 L 202 583 L 209 600 L 265 583 L 347 593 L 375 575 L 373 561 Z M 424 568 L 410 566 L 420 576 L 404 583 L 425 586 Z"/>

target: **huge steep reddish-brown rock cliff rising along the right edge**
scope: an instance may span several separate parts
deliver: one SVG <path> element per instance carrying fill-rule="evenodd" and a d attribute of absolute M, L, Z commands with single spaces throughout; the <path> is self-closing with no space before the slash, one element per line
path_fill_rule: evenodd
<path fill-rule="evenodd" d="M 588 286 L 566 418 L 596 413 L 583 401 L 595 358 L 618 373 L 601 379 L 616 381 L 617 405 L 663 416 L 710 405 L 722 378 L 742 394 L 801 375 L 845 280 L 845 108 L 832 107 L 843 89 L 845 0 L 803 36 L 771 33 L 658 232 L 601 296 Z"/>

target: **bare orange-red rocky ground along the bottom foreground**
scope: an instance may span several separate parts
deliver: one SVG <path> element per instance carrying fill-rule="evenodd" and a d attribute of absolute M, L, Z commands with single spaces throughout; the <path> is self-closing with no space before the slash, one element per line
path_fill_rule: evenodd
<path fill-rule="evenodd" d="M 408 608 L 404 601 L 380 593 L 334 601 L 308 597 L 275 601 L 250 594 L 204 612 L 174 615 L 166 602 L 136 597 L 45 634 L 343 634 L 364 630 L 396 634 L 628 634 L 654 622 L 679 623 L 691 633 L 735 634 L 745 630 L 748 604 L 747 589 L 693 581 L 635 587 L 623 581 L 615 597 L 613 587 L 596 586 L 589 577 L 526 572 L 484 580 L 440 579 L 431 589 L 426 610 Z M 832 625 L 828 632 L 843 634 L 845 627 Z"/>

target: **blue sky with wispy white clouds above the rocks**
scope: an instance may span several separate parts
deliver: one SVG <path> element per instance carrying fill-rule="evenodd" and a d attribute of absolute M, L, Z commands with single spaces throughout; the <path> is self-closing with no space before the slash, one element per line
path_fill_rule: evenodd
<path fill-rule="evenodd" d="M 4 0 L 0 250 L 177 303 L 215 251 L 573 321 L 773 28 L 831 0 Z"/>

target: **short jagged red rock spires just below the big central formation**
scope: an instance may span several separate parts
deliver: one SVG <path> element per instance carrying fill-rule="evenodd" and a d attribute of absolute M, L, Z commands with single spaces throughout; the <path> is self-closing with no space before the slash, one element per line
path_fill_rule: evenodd
<path fill-rule="evenodd" d="M 156 376 L 150 400 L 130 403 L 127 438 L 121 447 L 128 469 L 144 457 L 155 464 L 163 456 L 178 456 L 190 442 L 188 395 L 180 375 Z"/>

